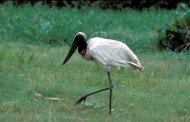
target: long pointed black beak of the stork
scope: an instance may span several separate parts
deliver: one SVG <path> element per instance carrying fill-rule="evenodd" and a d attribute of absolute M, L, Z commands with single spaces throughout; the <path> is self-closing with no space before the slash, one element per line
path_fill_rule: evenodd
<path fill-rule="evenodd" d="M 77 47 L 78 47 L 78 43 L 76 40 L 74 40 L 62 65 L 64 65 L 71 58 L 71 56 L 73 55 Z"/>

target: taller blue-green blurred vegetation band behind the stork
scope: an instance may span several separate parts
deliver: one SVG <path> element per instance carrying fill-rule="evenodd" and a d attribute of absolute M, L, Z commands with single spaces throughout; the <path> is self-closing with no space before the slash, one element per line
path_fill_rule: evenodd
<path fill-rule="evenodd" d="M 65 45 L 83 31 L 88 38 L 112 38 L 133 49 L 147 50 L 156 45 L 158 28 L 175 18 L 174 10 L 78 10 L 41 4 L 16 8 L 8 2 L 0 6 L 0 41 Z"/>

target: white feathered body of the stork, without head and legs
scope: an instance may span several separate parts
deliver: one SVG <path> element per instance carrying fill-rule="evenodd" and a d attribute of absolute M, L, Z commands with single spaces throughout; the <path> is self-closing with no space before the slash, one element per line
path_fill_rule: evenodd
<path fill-rule="evenodd" d="M 102 64 L 106 69 L 110 67 L 133 67 L 141 70 L 142 66 L 137 56 L 129 47 L 119 41 L 100 37 L 91 38 L 87 42 L 86 53 L 81 55 L 86 60 L 93 60 Z"/>

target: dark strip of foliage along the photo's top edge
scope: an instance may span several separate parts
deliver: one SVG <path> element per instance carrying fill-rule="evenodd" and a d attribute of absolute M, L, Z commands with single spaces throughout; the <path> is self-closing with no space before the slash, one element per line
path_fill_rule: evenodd
<path fill-rule="evenodd" d="M 6 0 L 1 0 L 0 3 L 5 3 Z M 184 2 L 190 5 L 189 0 L 13 0 L 15 6 L 20 6 L 25 3 L 31 3 L 34 5 L 36 2 L 42 4 L 48 4 L 49 6 L 57 7 L 77 7 L 83 6 L 98 6 L 102 9 L 122 10 L 125 8 L 133 8 L 142 10 L 144 8 L 164 8 L 174 9 L 177 4 Z"/>

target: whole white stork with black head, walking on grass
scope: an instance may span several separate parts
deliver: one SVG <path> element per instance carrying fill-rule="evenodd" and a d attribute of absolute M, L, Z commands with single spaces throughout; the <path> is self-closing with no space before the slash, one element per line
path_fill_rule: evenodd
<path fill-rule="evenodd" d="M 69 49 L 69 52 L 63 62 L 65 64 L 78 48 L 79 54 L 86 60 L 91 60 L 102 64 L 108 75 L 109 87 L 101 89 L 82 96 L 76 104 L 85 102 L 86 98 L 90 95 L 102 92 L 105 90 L 110 91 L 109 95 L 109 114 L 111 114 L 111 99 L 112 99 L 112 80 L 110 76 L 111 67 L 132 67 L 136 70 L 143 70 L 143 66 L 138 60 L 137 56 L 129 49 L 129 47 L 119 41 L 94 37 L 87 41 L 86 34 L 78 32 L 74 41 Z"/>

